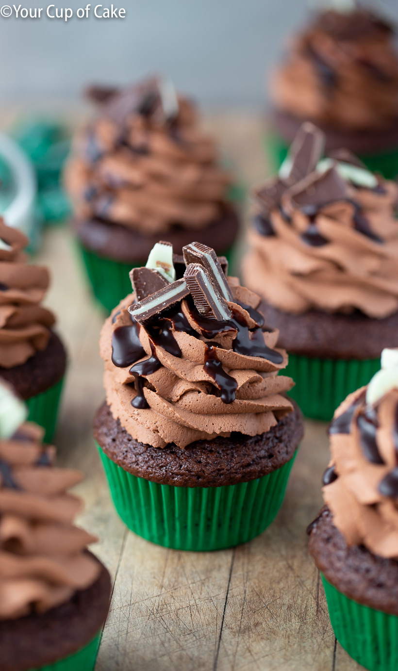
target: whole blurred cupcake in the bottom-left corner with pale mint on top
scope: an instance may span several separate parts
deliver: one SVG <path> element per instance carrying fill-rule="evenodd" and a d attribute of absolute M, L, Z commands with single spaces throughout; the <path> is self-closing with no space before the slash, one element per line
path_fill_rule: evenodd
<path fill-rule="evenodd" d="M 111 581 L 74 526 L 82 474 L 56 468 L 44 431 L 0 385 L 0 657 L 2 671 L 92 671 Z M 20 424 L 20 422 L 23 422 Z"/>

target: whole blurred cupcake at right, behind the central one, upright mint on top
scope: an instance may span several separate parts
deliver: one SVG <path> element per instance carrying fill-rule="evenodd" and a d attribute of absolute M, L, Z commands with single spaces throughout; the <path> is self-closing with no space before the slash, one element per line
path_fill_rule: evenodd
<path fill-rule="evenodd" d="M 323 144 L 305 123 L 279 175 L 254 191 L 242 274 L 280 330 L 293 397 L 330 420 L 398 346 L 398 189 L 347 150 L 320 160 Z"/>

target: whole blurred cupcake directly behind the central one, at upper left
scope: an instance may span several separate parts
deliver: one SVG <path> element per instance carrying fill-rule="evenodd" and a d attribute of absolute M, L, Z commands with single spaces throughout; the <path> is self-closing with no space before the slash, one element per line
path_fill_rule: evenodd
<path fill-rule="evenodd" d="M 99 93 L 91 92 L 103 102 L 76 138 L 65 183 L 93 293 L 111 311 L 159 239 L 181 253 L 195 237 L 228 256 L 238 217 L 232 178 L 188 99 L 157 79 Z"/>

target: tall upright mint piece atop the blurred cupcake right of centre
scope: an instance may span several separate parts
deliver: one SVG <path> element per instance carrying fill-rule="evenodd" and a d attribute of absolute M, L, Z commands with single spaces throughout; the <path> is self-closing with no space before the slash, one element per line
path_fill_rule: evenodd
<path fill-rule="evenodd" d="M 279 170 L 281 179 L 295 184 L 313 172 L 324 153 L 325 135 L 307 121 L 299 128 L 289 154 Z"/>

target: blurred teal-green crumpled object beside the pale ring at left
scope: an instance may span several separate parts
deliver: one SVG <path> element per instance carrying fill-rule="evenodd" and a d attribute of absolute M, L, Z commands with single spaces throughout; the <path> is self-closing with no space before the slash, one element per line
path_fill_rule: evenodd
<path fill-rule="evenodd" d="M 62 187 L 62 169 L 70 149 L 70 134 L 61 123 L 45 120 L 21 122 L 13 138 L 32 161 L 38 180 L 36 216 L 42 223 L 57 223 L 70 215 Z"/>

